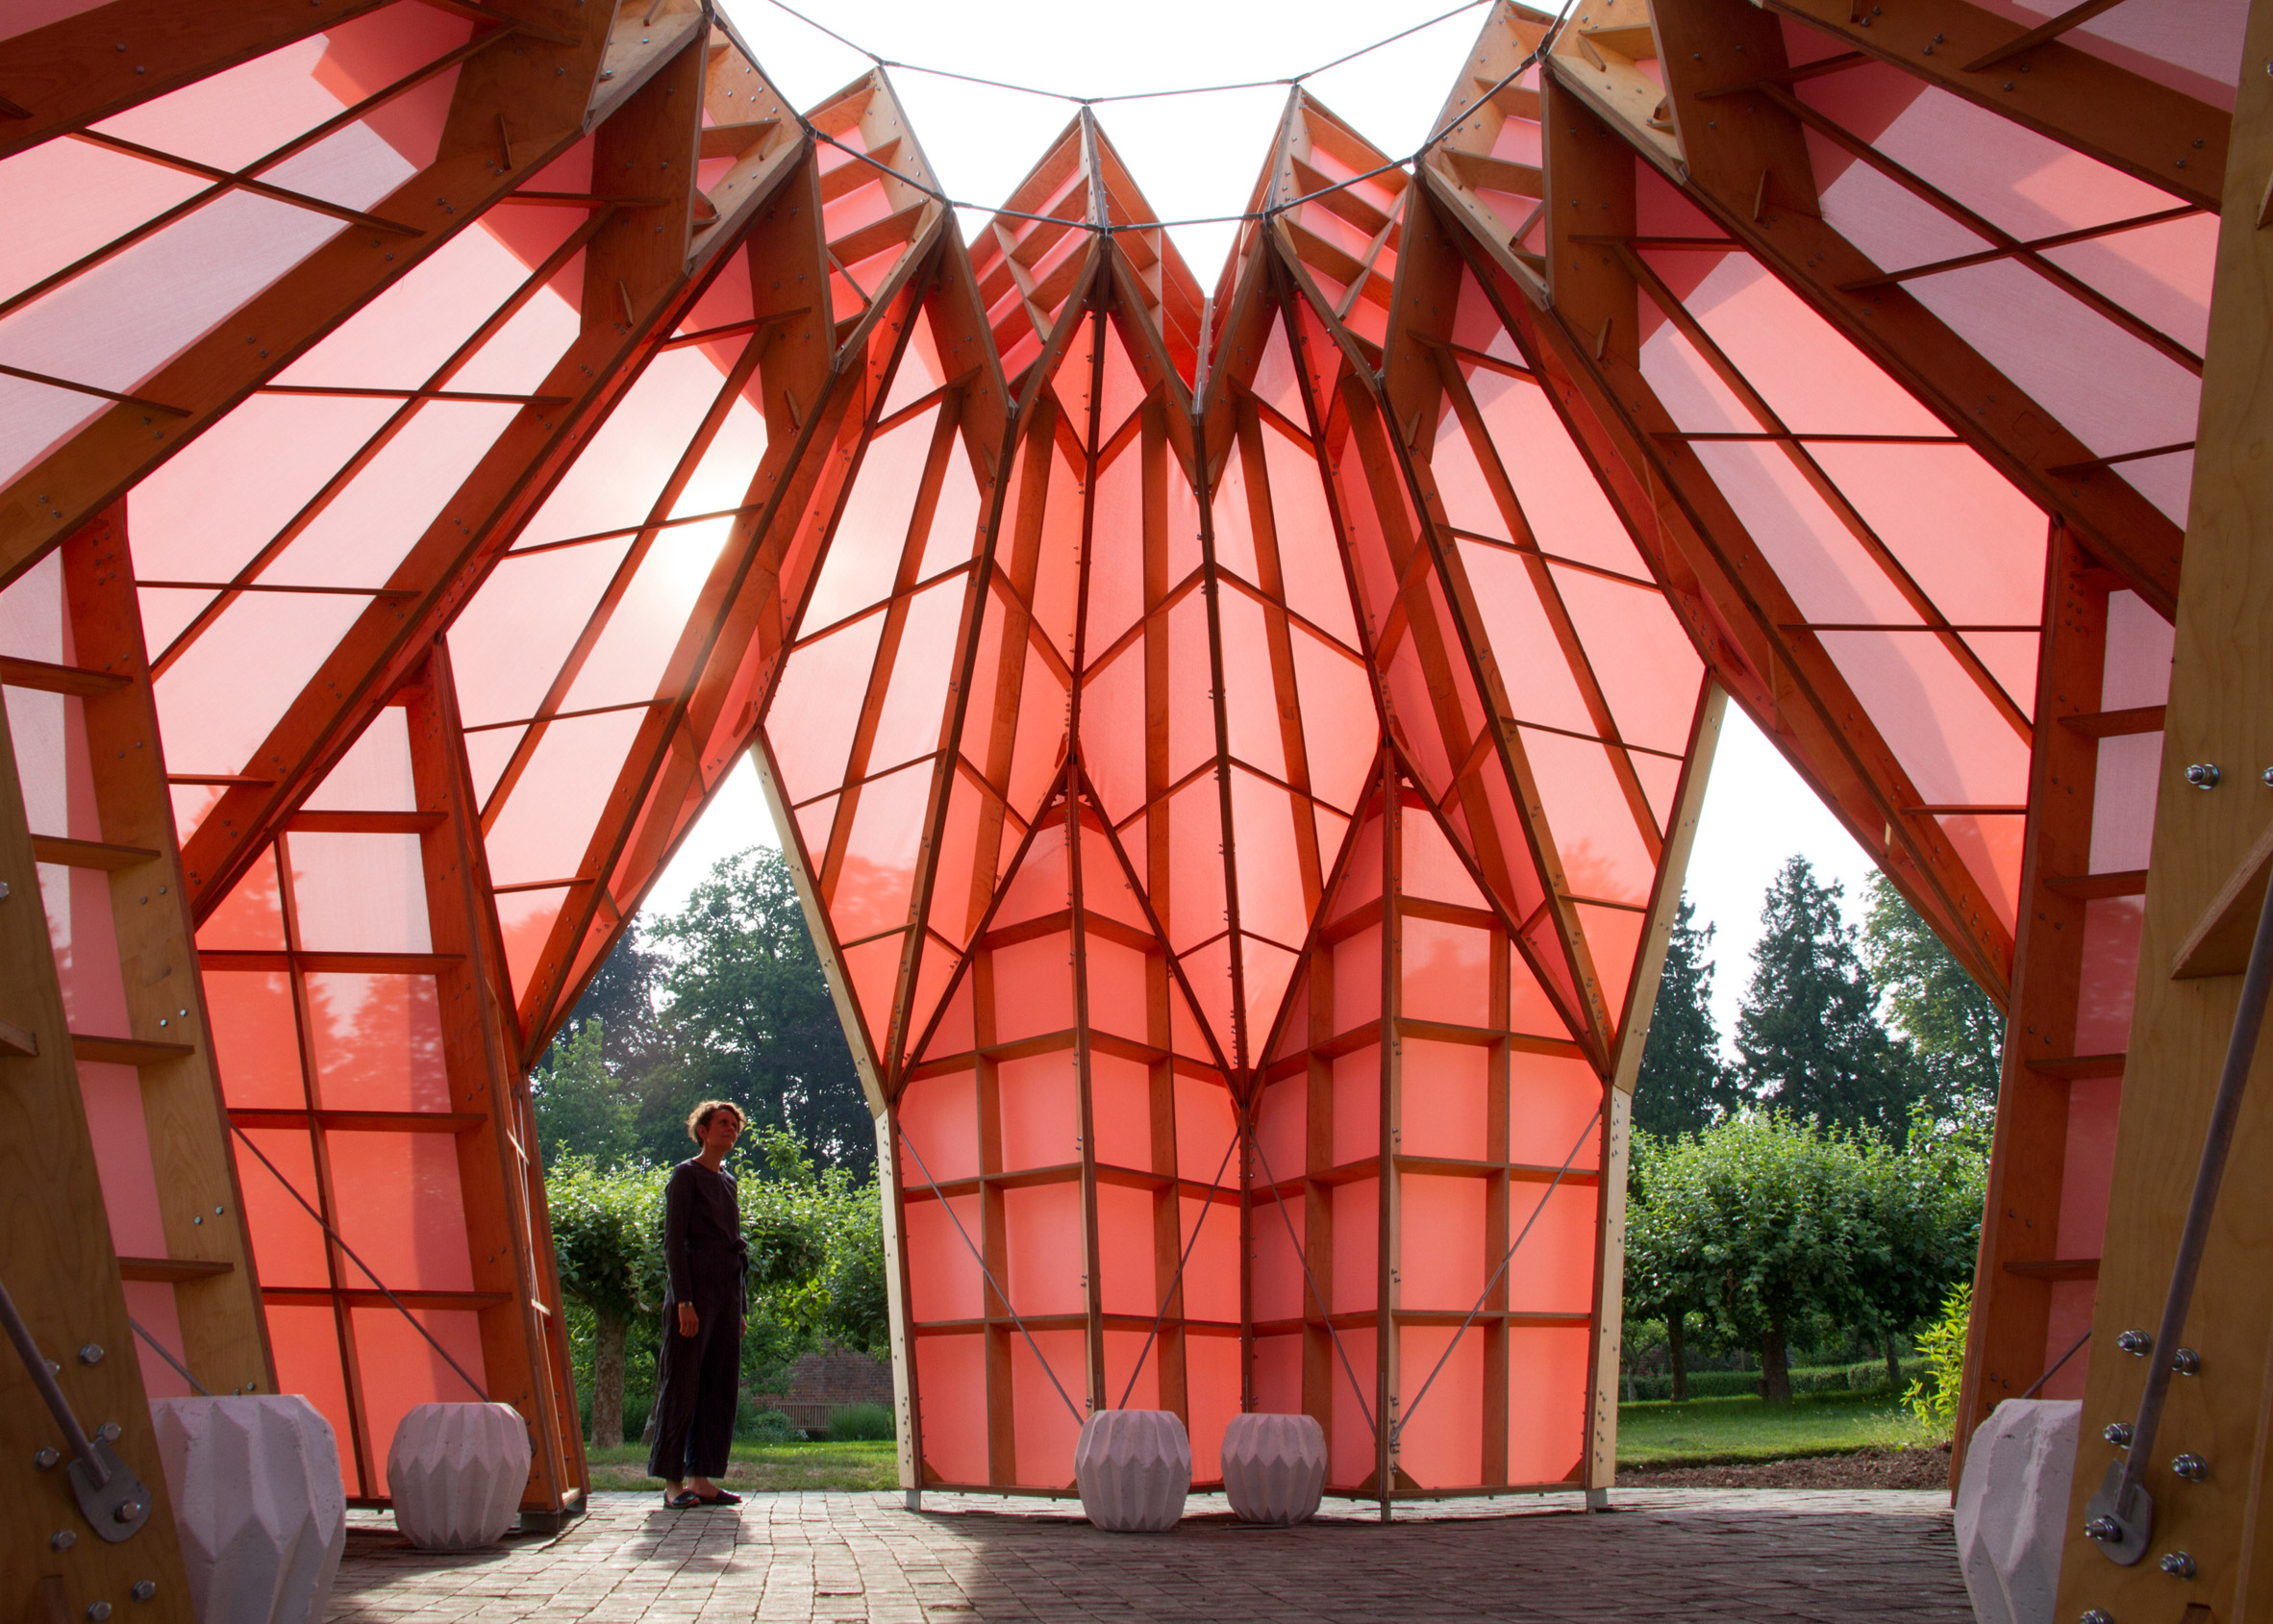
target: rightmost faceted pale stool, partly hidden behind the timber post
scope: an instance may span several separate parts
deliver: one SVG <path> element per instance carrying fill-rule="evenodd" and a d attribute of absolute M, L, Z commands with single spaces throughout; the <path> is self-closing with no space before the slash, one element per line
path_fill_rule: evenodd
<path fill-rule="evenodd" d="M 1957 1565 L 1980 1624 L 2053 1624 L 2082 1408 L 2005 1399 L 1966 1447 Z"/>

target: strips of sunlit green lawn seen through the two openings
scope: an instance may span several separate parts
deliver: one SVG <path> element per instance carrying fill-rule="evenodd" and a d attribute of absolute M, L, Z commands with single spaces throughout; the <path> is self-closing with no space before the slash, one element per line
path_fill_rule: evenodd
<path fill-rule="evenodd" d="M 1914 1449 L 1939 1442 L 1900 1399 L 1884 1392 L 1821 1392 L 1771 1410 L 1757 1397 L 1621 1403 L 1618 1465 L 1705 1467 L 1739 1460 L 1796 1460 L 1855 1449 Z M 793 1442 L 734 1444 L 725 1474 L 736 1490 L 891 1490 L 900 1483 L 898 1444 Z M 596 1490 L 648 1490 L 643 1444 L 591 1451 Z"/>

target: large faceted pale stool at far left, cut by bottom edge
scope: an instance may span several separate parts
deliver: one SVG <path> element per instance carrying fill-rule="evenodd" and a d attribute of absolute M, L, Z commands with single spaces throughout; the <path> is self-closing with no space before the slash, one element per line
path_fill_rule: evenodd
<path fill-rule="evenodd" d="M 316 1624 L 348 1549 L 339 1440 L 300 1394 L 152 1399 L 202 1624 Z"/>

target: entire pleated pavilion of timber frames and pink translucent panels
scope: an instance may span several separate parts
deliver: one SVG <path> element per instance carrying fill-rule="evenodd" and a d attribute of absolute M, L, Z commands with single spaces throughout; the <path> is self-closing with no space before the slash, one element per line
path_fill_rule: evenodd
<path fill-rule="evenodd" d="M 482 1392 L 573 1510 L 525 1078 L 750 757 L 911 1490 L 1125 1403 L 1602 1490 L 1732 701 L 2007 1010 L 1959 1447 L 2082 1397 L 2087 1492 L 2268 867 L 2273 9 L 2034 16 L 1500 2 L 1412 164 L 1291 93 L 1202 291 L 1089 109 L 966 243 L 882 68 L 800 114 L 698 0 L 0 5 L 0 1278 L 145 1349 L 73 1401 L 157 1483 L 168 1360 L 305 1392 L 384 1503 Z M 2264 1610 L 2223 1212 L 2196 1579 L 2071 1613 Z"/>

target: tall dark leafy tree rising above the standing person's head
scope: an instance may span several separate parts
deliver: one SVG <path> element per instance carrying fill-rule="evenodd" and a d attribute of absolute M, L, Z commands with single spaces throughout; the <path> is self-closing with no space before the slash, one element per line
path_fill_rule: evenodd
<path fill-rule="evenodd" d="M 686 1110 L 730 1099 L 821 1162 L 875 1167 L 875 1124 L 782 853 L 721 860 L 652 939 L 668 953 L 659 1021 L 671 1062 L 643 1089 L 650 1153 L 686 1155 Z"/>

